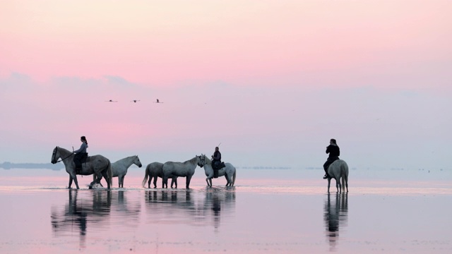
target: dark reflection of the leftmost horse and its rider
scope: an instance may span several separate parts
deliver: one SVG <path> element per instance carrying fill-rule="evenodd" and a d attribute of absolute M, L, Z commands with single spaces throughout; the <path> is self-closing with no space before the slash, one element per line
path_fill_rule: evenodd
<path fill-rule="evenodd" d="M 69 200 L 63 210 L 52 207 L 52 231 L 64 236 L 73 229 L 80 234 L 81 247 L 85 247 L 88 226 L 102 226 L 112 204 L 110 191 L 69 191 Z M 76 226 L 76 227 L 74 227 Z"/>

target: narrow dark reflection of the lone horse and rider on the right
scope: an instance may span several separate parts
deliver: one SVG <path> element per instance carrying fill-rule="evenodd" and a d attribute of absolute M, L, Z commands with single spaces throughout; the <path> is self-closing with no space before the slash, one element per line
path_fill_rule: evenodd
<path fill-rule="evenodd" d="M 326 237 L 331 250 L 335 250 L 336 241 L 339 237 L 339 227 L 347 221 L 347 193 L 336 193 L 335 200 L 332 202 L 331 194 L 328 193 L 328 199 L 325 202 L 325 214 L 323 219 L 326 224 Z"/>

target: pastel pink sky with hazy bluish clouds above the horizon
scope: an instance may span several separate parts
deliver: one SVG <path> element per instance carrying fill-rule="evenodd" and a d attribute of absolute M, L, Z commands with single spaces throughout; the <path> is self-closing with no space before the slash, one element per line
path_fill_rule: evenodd
<path fill-rule="evenodd" d="M 451 1 L 0 5 L 0 162 L 451 168 Z"/>

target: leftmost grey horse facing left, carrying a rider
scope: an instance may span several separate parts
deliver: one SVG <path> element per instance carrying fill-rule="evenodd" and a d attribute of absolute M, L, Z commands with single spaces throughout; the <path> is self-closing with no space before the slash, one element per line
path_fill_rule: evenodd
<path fill-rule="evenodd" d="M 76 172 L 76 164 L 73 162 L 74 157 L 73 152 L 69 152 L 61 147 L 55 147 L 52 152 L 52 164 L 56 164 L 57 162 L 63 162 L 64 167 L 66 167 L 66 172 L 69 174 L 69 186 L 71 188 L 72 181 L 76 183 L 77 189 L 78 181 L 77 181 L 77 172 Z M 58 159 L 61 158 L 61 161 Z M 107 188 L 110 188 L 110 184 L 112 183 L 112 164 L 109 159 L 103 157 L 102 155 L 93 155 L 86 159 L 82 164 L 82 170 L 78 173 L 83 176 L 88 176 L 90 174 L 95 174 L 97 179 L 90 183 L 89 188 L 93 188 L 93 184 L 100 183 L 102 176 L 105 177 L 105 181 L 107 181 Z"/>

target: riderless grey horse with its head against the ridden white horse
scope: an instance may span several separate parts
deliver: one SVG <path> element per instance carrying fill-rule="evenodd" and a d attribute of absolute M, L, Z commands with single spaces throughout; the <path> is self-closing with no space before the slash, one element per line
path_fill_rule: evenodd
<path fill-rule="evenodd" d="M 201 156 L 196 155 L 186 162 L 165 162 L 162 167 L 164 185 L 168 188 L 169 178 L 182 176 L 186 177 L 185 188 L 189 189 L 191 176 L 195 174 L 196 166 L 201 167 Z"/>

